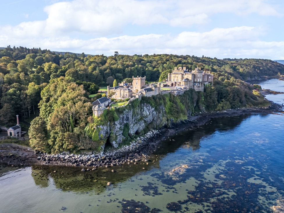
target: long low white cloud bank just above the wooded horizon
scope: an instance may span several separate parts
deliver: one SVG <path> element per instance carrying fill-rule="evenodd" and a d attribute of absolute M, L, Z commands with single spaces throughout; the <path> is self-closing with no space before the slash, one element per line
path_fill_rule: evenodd
<path fill-rule="evenodd" d="M 216 28 L 211 31 L 170 34 L 118 36 L 113 38 L 74 39 L 70 37 L 10 39 L 15 45 L 41 47 L 53 51 L 85 52 L 88 54 L 178 54 L 217 58 L 284 59 L 284 42 L 264 42 L 258 37 L 262 30 L 249 27 Z M 8 37 L 0 36 L 0 44 Z M 0 45 L 1 46 L 1 45 Z"/>

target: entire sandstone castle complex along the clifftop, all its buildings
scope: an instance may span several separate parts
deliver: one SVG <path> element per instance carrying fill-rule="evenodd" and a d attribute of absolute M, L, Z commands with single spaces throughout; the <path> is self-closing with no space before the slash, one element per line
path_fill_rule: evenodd
<path fill-rule="evenodd" d="M 204 91 L 204 85 L 213 83 L 213 75 L 200 70 L 198 67 L 192 71 L 188 71 L 186 67 L 176 67 L 171 73 L 168 73 L 166 84 L 146 84 L 145 77 L 132 76 L 132 83 L 126 81 L 121 82 L 119 86 L 107 86 L 107 96 L 115 99 L 139 98 L 142 96 L 152 96 L 161 93 L 161 87 L 174 87 L 171 92 L 175 95 L 182 94 L 184 91 L 192 88 L 196 91 Z M 93 116 L 99 117 L 102 115 L 105 107 L 109 105 L 111 100 L 102 97 L 93 102 Z M 101 100 L 102 99 L 102 100 Z M 105 100 L 103 100 L 105 99 Z M 96 103 L 97 102 L 97 103 Z"/>

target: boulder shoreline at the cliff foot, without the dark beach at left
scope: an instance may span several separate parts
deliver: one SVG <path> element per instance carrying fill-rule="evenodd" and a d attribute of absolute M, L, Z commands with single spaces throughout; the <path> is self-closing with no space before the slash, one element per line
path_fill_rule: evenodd
<path fill-rule="evenodd" d="M 273 107 L 274 108 L 274 107 Z M 159 148 L 159 143 L 171 135 L 185 129 L 193 129 L 208 123 L 212 118 L 225 116 L 237 116 L 241 114 L 257 114 L 272 113 L 267 109 L 236 109 L 226 110 L 222 112 L 203 113 L 200 116 L 190 116 L 188 120 L 174 124 L 171 128 L 162 128 L 160 130 L 152 130 L 140 136 L 130 145 L 124 145 L 121 148 L 107 151 L 103 154 L 91 155 L 74 155 L 69 153 L 61 153 L 59 155 L 42 154 L 38 156 L 39 161 L 49 165 L 65 165 L 65 166 L 92 166 L 93 170 L 97 167 L 112 167 L 123 164 L 137 164 L 152 161 L 149 156 Z M 148 164 L 148 163 L 146 163 Z M 84 170 L 84 169 L 82 169 Z M 90 170 L 90 169 L 88 169 Z"/>

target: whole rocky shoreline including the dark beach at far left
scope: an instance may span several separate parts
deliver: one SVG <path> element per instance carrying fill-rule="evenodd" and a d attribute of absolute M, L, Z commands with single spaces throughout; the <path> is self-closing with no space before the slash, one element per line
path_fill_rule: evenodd
<path fill-rule="evenodd" d="M 242 108 L 230 109 L 221 112 L 207 112 L 198 116 L 189 116 L 187 120 L 173 124 L 169 128 L 152 130 L 147 134 L 140 136 L 130 145 L 124 145 L 120 148 L 112 148 L 103 154 L 74 155 L 61 153 L 57 155 L 36 153 L 33 150 L 25 148 L 15 148 L 9 144 L 1 144 L 0 165 L 8 166 L 31 166 L 31 165 L 56 165 L 56 166 L 77 166 L 82 171 L 95 170 L 98 167 L 115 167 L 124 164 L 148 164 L 152 161 L 149 156 L 155 152 L 161 141 L 169 138 L 177 132 L 186 129 L 198 128 L 205 125 L 212 118 L 231 117 L 243 114 L 275 113 L 280 105 L 271 102 L 269 109 L 261 108 Z M 85 168 L 83 168 L 85 167 Z"/>

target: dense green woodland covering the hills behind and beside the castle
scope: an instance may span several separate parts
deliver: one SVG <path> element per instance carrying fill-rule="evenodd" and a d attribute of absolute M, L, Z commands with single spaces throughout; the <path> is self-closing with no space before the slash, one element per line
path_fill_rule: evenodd
<path fill-rule="evenodd" d="M 245 80 L 284 74 L 284 65 L 264 59 L 217 59 L 168 54 L 113 56 L 55 54 L 40 48 L 8 46 L 0 50 L 0 121 L 15 123 L 19 114 L 23 125 L 31 122 L 54 144 L 84 141 L 84 128 L 91 119 L 91 98 L 99 86 L 113 85 L 132 76 L 162 81 L 176 66 L 192 70 L 197 66 L 214 74 L 214 86 L 206 87 L 206 111 L 264 106 L 260 94 Z M 45 134 L 48 131 L 48 135 Z M 56 142 L 57 141 L 57 142 Z M 58 146 L 63 146 L 63 143 Z M 69 149 L 70 147 L 65 147 Z"/>

